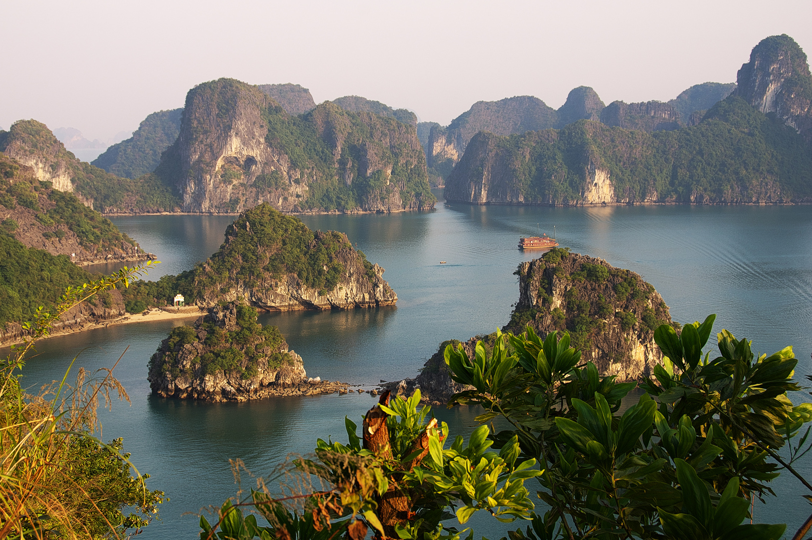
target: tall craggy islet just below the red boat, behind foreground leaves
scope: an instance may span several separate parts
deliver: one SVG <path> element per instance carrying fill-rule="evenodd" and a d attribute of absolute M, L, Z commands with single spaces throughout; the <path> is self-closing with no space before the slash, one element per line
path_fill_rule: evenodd
<path fill-rule="evenodd" d="M 581 358 L 618 382 L 646 378 L 662 361 L 654 330 L 671 315 L 640 275 L 563 249 L 523 262 L 517 274 L 519 301 L 504 330 L 568 330 Z"/>

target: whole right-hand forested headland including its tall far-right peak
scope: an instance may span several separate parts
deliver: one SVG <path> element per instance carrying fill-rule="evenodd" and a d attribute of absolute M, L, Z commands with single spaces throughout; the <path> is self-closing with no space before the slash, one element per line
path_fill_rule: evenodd
<path fill-rule="evenodd" d="M 790 57 L 793 63 L 785 63 Z M 759 94 L 771 88 L 777 91 Z M 769 37 L 739 71 L 734 94 L 695 126 L 650 133 L 580 120 L 524 135 L 480 132 L 447 179 L 445 197 L 553 205 L 809 203 L 807 92 L 806 55 L 787 36 Z"/>

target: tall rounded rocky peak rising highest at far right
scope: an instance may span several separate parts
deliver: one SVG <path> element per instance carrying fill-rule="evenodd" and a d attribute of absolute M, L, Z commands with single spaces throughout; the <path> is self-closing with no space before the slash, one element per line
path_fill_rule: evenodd
<path fill-rule="evenodd" d="M 786 34 L 763 39 L 736 75 L 734 95 L 762 113 L 775 113 L 812 141 L 812 75 L 806 54 Z"/>

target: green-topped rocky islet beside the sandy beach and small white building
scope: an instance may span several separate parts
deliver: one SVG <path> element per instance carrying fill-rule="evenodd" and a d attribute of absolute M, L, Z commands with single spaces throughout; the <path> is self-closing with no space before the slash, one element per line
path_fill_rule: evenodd
<path fill-rule="evenodd" d="M 395 305 L 383 271 L 347 235 L 309 231 L 258 205 L 228 227 L 221 248 L 197 270 L 190 297 L 208 307 L 225 300 L 274 311 Z"/>

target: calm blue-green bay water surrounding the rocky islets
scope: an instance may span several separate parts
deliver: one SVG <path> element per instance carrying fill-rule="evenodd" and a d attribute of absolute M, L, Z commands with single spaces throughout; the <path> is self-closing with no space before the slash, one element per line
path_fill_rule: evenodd
<path fill-rule="evenodd" d="M 157 279 L 213 253 L 231 219 L 113 221 L 163 261 L 150 275 Z M 503 326 L 517 298 L 513 271 L 534 256 L 516 249 L 519 235 L 534 234 L 537 227 L 552 233 L 554 225 L 562 246 L 634 270 L 654 284 L 676 321 L 717 313 L 716 330 L 753 339 L 761 352 L 791 344 L 800 359 L 796 377 L 805 380 L 812 373 L 809 206 L 572 209 L 440 203 L 425 213 L 303 219 L 313 229 L 346 232 L 370 261 L 386 268 L 384 278 L 400 298 L 396 308 L 262 315 L 262 322 L 279 326 L 311 376 L 365 386 L 413 377 L 444 339 L 468 339 Z M 149 525 L 143 538 L 196 536 L 197 516 L 184 512 L 235 494 L 229 459 L 241 458 L 252 473 L 268 474 L 289 452 L 312 451 L 316 437 L 345 440 L 344 415 L 360 424 L 374 404 L 365 394 L 245 404 L 155 398 L 149 395 L 146 364 L 177 324 L 141 323 L 50 339 L 25 369 L 26 381 L 36 386 L 61 377 L 74 356 L 78 365 L 107 367 L 128 348 L 116 374 L 132 405 L 115 404 L 112 412 L 102 413 L 102 436 L 123 437 L 136 466 L 152 475 L 149 486 L 171 497 L 162 521 Z M 436 413 L 462 434 L 470 432 L 476 414 L 468 408 Z M 809 463 L 801 467 L 806 473 L 812 473 Z M 243 480 L 246 488 L 254 485 L 253 479 Z M 756 519 L 786 521 L 794 531 L 810 512 L 801 486 L 788 475 L 774 483 L 780 508 L 775 499 L 757 506 Z M 499 538 L 507 530 L 486 516 L 474 525 L 477 538 Z"/>

